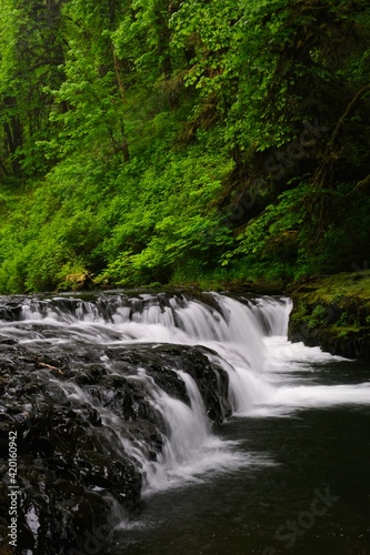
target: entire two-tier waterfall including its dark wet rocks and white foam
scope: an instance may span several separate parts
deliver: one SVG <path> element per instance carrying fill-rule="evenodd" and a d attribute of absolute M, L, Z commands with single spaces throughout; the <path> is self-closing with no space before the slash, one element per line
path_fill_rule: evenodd
<path fill-rule="evenodd" d="M 129 526 L 141 497 L 273 464 L 268 446 L 222 437 L 229 417 L 370 404 L 369 383 L 316 383 L 314 365 L 339 359 L 288 342 L 290 310 L 289 299 L 219 293 L 0 302 L 0 412 L 32 475 L 18 476 L 23 551 L 68 553 L 86 511 Z"/>

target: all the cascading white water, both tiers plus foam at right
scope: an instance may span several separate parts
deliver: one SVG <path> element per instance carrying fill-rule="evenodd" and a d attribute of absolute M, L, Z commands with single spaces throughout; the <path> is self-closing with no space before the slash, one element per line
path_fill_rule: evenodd
<path fill-rule="evenodd" d="M 104 305 L 64 297 L 28 302 L 17 325 L 3 322 L 0 327 L 21 343 L 48 343 L 41 331 L 30 335 L 22 325 L 37 322 L 39 326 L 58 329 L 58 341 L 64 343 L 202 345 L 209 350 L 209 360 L 229 375 L 234 415 L 281 415 L 314 403 L 370 403 L 369 384 L 324 389 L 297 381 L 294 372 L 304 371 L 308 361 L 329 362 L 332 356 L 287 341 L 290 300 L 264 297 L 240 302 L 216 293 L 208 299 L 206 304 L 183 296 L 141 294 L 134 299 L 111 296 Z M 106 366 L 111 374 L 119 373 L 113 362 L 107 361 Z M 120 434 L 117 415 L 94 405 L 76 384 L 54 382 L 77 407 L 84 403 L 99 411 L 103 424 L 114 430 L 122 450 L 140 464 L 148 491 L 199 478 L 206 471 L 263 463 L 258 457 L 246 460 L 236 445 L 212 435 L 194 380 L 181 369 L 173 371 L 184 382 L 190 406 L 161 390 L 144 367 L 139 375 L 129 376 L 142 381 L 151 405 L 161 414 L 166 426 L 163 448 L 157 461 L 148 460 L 144 445 L 139 441 L 130 442 Z"/>

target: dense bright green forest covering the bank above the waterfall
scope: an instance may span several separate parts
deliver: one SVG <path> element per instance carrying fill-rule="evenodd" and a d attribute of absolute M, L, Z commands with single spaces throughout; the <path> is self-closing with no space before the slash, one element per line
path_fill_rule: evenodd
<path fill-rule="evenodd" d="M 370 260 L 368 0 L 1 0 L 0 293 Z"/>

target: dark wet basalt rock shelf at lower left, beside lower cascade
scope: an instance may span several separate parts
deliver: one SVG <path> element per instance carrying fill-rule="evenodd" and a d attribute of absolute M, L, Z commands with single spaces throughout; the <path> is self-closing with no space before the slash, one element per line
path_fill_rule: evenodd
<path fill-rule="evenodd" d="M 31 325 L 28 333 L 37 337 L 41 331 Z M 42 333 L 52 340 L 58 332 L 43 327 Z M 17 432 L 21 492 L 19 553 L 89 553 L 89 542 L 98 542 L 103 553 L 114 524 L 141 508 L 144 476 L 124 440 L 148 461 L 163 445 L 166 425 L 151 402 L 152 390 L 190 404 L 176 370 L 187 372 L 209 418 L 219 424 L 231 414 L 228 374 L 198 346 L 92 349 L 50 341 L 48 354 L 43 351 L 42 342 L 20 345 L 4 337 L 0 343 L 0 536 L 7 538 L 9 525 L 11 431 Z"/>

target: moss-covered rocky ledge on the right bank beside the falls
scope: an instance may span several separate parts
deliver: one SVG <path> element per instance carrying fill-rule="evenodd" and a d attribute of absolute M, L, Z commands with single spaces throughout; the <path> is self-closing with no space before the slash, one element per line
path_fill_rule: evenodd
<path fill-rule="evenodd" d="M 370 361 L 370 271 L 311 280 L 289 292 L 288 339 L 331 354 Z"/>

